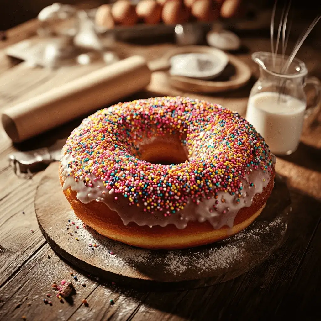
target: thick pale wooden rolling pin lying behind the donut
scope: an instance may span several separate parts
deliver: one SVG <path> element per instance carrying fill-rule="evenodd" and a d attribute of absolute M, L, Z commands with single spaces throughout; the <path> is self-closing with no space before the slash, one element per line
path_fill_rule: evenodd
<path fill-rule="evenodd" d="M 131 56 L 8 108 L 2 125 L 22 142 L 142 90 L 151 74 L 143 57 Z"/>

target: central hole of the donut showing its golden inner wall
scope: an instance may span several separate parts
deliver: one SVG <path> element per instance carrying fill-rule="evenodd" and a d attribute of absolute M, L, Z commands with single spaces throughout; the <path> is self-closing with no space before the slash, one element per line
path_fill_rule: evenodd
<path fill-rule="evenodd" d="M 182 164 L 189 161 L 188 150 L 178 136 L 153 136 L 138 144 L 140 159 L 152 164 Z"/>

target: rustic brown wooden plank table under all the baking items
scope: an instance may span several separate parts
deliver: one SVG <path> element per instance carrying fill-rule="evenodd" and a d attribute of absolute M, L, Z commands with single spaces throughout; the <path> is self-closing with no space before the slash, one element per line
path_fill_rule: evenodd
<path fill-rule="evenodd" d="M 30 22 L 32 24 L 34 22 Z M 19 41 L 33 30 L 30 24 L 10 30 L 7 43 Z M 29 31 L 28 31 L 29 28 Z M 27 30 L 27 31 L 26 31 Z M 31 31 L 32 33 L 32 31 Z M 250 49 L 269 50 L 269 40 L 243 39 Z M 157 58 L 163 46 L 133 47 L 133 51 Z M 251 67 L 250 53 L 239 55 Z M 320 52 L 303 48 L 299 54 L 310 74 L 321 77 Z M 84 71 L 85 72 L 85 71 Z M 61 71 L 48 73 L 39 69 L 30 77 L 24 64 L 8 59 L 0 51 L 0 108 L 25 100 L 64 81 Z M 77 76 L 70 73 L 69 79 Z M 253 81 L 246 87 L 216 96 L 200 96 L 169 88 L 161 72 L 155 73 L 146 91 L 135 97 L 188 95 L 203 98 L 245 114 L 247 97 Z M 126 98 L 127 99 L 127 98 Z M 320 114 L 319 114 L 320 115 Z M 298 150 L 278 158 L 276 171 L 291 190 L 291 223 L 282 246 L 265 263 L 229 282 L 194 290 L 159 292 L 121 288 L 88 277 L 57 256 L 43 238 L 36 221 L 34 195 L 41 178 L 17 177 L 9 167 L 8 155 L 53 143 L 79 124 L 80 119 L 41 137 L 13 146 L 0 131 L 0 319 L 21 320 L 271 320 L 272 316 L 295 315 L 309 318 L 319 306 L 321 285 L 321 118 L 308 119 Z M 78 276 L 85 287 L 78 286 L 73 303 L 48 299 L 53 282 Z M 87 299 L 89 306 L 82 304 Z M 114 304 L 110 303 L 113 300 Z M 50 300 L 50 299 L 48 299 Z"/>

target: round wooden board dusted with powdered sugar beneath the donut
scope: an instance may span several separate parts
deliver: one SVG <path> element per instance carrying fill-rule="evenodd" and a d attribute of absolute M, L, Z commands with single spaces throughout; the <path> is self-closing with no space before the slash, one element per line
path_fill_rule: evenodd
<path fill-rule="evenodd" d="M 230 280 L 262 263 L 282 240 L 290 203 L 286 185 L 276 179 L 262 214 L 230 239 L 185 250 L 146 250 L 83 227 L 61 190 L 55 162 L 39 183 L 35 210 L 49 245 L 75 266 L 130 286 L 186 289 Z"/>

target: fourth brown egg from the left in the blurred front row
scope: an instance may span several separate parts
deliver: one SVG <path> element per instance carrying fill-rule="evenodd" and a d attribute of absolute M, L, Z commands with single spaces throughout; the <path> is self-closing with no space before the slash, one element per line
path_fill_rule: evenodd
<path fill-rule="evenodd" d="M 164 4 L 162 20 L 165 24 L 177 24 L 187 22 L 190 9 L 177 0 L 171 0 Z"/>

